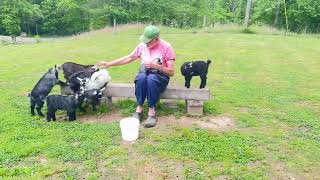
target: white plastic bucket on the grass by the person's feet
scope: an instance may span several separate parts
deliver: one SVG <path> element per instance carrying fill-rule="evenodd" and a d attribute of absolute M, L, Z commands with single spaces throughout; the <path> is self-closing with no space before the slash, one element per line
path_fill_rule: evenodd
<path fill-rule="evenodd" d="M 139 137 L 139 119 L 128 117 L 120 121 L 122 140 L 134 141 Z"/>

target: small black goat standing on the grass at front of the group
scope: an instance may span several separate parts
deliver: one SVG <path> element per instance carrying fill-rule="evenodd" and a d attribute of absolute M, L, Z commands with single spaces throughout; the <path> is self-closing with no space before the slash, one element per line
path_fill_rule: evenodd
<path fill-rule="evenodd" d="M 50 95 L 47 97 L 47 121 L 56 120 L 57 110 L 66 110 L 69 116 L 69 121 L 76 120 L 76 109 L 79 106 L 81 96 L 78 94 L 71 96 Z"/>

